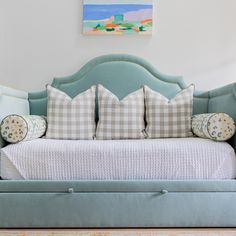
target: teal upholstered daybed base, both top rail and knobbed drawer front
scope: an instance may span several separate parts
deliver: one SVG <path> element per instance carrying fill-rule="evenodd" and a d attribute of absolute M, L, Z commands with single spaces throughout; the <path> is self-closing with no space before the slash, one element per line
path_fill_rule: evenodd
<path fill-rule="evenodd" d="M 236 181 L 1 181 L 1 228 L 236 227 Z"/>

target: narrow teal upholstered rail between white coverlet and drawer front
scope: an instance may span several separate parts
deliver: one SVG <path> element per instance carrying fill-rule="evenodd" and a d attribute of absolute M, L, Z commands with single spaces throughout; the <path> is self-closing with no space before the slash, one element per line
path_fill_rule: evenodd
<path fill-rule="evenodd" d="M 75 193 L 102 192 L 236 192 L 235 180 L 146 180 L 146 181 L 51 181 L 4 180 L 0 181 L 0 193 Z"/>

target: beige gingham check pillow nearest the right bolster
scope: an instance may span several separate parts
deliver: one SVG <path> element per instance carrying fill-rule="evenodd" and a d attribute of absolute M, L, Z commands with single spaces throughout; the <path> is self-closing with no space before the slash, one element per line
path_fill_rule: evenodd
<path fill-rule="evenodd" d="M 148 138 L 192 136 L 193 92 L 191 85 L 169 100 L 144 86 Z"/>

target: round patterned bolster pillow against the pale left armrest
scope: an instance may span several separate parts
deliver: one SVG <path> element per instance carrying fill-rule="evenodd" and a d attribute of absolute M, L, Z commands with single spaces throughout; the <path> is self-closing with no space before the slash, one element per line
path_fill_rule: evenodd
<path fill-rule="evenodd" d="M 34 115 L 9 115 L 1 123 L 1 135 L 9 143 L 40 138 L 46 132 L 46 119 Z"/>

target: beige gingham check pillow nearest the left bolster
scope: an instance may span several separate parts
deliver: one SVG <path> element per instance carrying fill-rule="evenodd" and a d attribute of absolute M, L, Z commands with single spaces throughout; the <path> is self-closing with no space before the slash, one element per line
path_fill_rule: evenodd
<path fill-rule="evenodd" d="M 96 86 L 71 98 L 66 93 L 47 86 L 48 129 L 46 138 L 93 139 L 95 135 Z"/>

